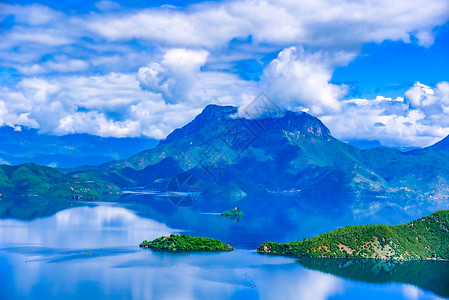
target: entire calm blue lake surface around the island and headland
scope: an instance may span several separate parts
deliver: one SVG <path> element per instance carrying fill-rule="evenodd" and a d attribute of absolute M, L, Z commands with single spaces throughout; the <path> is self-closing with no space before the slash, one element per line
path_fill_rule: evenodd
<path fill-rule="evenodd" d="M 0 299 L 449 297 L 448 262 L 298 260 L 254 250 L 266 240 L 297 240 L 342 225 L 377 222 L 378 216 L 339 213 L 331 218 L 305 212 L 273 221 L 250 212 L 237 222 L 210 211 L 165 206 L 163 199 L 133 199 L 68 208 L 32 220 L 4 215 Z M 400 223 L 414 217 L 392 213 L 382 220 Z M 186 254 L 137 246 L 176 232 L 219 238 L 237 250 Z"/>

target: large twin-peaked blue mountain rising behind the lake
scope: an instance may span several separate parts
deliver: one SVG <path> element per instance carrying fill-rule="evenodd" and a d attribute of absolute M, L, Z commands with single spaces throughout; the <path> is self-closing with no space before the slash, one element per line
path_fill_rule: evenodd
<path fill-rule="evenodd" d="M 358 149 L 332 137 L 304 112 L 236 117 L 238 108 L 208 105 L 193 121 L 150 150 L 89 169 L 124 188 L 166 190 L 177 174 L 198 179 L 202 194 L 238 201 L 247 195 L 316 198 L 315 205 L 440 203 L 449 195 L 448 138 L 432 147 L 401 152 Z M 84 174 L 72 169 L 68 174 Z"/>

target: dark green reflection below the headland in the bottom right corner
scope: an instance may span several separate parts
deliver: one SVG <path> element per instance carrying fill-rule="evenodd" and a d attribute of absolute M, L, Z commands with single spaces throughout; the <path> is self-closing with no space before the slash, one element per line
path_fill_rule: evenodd
<path fill-rule="evenodd" d="M 298 263 L 310 270 L 370 283 L 400 282 L 449 297 L 448 261 L 389 261 L 372 259 L 302 258 Z M 417 289 L 408 286 L 408 295 Z"/>

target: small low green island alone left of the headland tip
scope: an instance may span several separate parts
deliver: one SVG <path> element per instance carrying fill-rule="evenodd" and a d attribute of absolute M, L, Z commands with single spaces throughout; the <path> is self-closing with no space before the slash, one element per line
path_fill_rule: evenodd
<path fill-rule="evenodd" d="M 152 241 L 143 241 L 139 245 L 142 248 L 167 251 L 232 251 L 235 250 L 228 244 L 219 240 L 188 236 L 185 234 L 171 234 L 161 236 Z"/>

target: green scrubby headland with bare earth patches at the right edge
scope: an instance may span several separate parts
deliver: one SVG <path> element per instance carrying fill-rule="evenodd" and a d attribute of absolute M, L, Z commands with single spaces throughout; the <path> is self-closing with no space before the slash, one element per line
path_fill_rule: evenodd
<path fill-rule="evenodd" d="M 347 226 L 302 241 L 266 242 L 257 252 L 298 257 L 448 260 L 449 210 L 401 225 Z"/>

